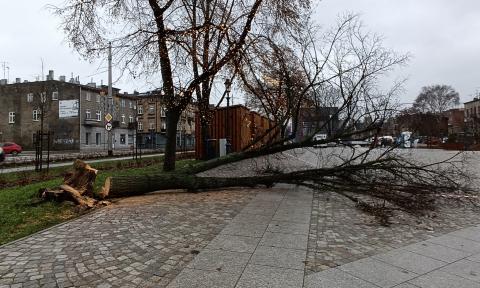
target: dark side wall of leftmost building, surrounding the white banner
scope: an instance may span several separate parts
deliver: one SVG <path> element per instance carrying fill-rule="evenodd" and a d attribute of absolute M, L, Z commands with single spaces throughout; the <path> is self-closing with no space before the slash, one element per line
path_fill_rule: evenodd
<path fill-rule="evenodd" d="M 52 94 L 58 95 L 52 99 Z M 32 98 L 28 94 L 32 93 Z M 41 101 L 41 93 L 45 101 Z M 59 103 L 78 100 L 78 86 L 60 81 L 38 81 L 0 86 L 0 141 L 13 141 L 25 150 L 34 149 L 33 135 L 41 129 L 41 113 L 33 119 L 33 110 L 43 107 L 43 130 L 51 131 L 53 150 L 78 150 L 79 117 L 60 117 Z M 56 97 L 55 97 L 56 98 Z M 42 104 L 44 103 L 44 104 Z M 9 123 L 9 112 L 15 113 L 15 123 Z"/>

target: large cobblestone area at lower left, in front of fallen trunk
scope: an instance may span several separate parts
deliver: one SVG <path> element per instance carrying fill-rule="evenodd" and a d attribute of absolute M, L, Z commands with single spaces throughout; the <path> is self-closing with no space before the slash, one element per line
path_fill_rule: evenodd
<path fill-rule="evenodd" d="M 163 287 L 249 202 L 248 190 L 124 199 L 0 247 L 0 287 Z"/>

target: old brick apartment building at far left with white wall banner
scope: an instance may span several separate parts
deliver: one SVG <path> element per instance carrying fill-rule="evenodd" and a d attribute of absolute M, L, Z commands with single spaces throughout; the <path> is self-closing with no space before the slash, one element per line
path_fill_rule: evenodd
<path fill-rule="evenodd" d="M 108 150 L 105 114 L 107 87 L 95 83 L 82 85 L 78 79 L 54 80 L 53 71 L 46 81 L 0 85 L 0 142 L 13 141 L 26 150 L 34 149 L 34 134 L 51 131 L 53 150 Z M 114 149 L 134 144 L 136 102 L 134 97 L 114 95 Z M 43 119 L 43 121 L 42 121 Z"/>

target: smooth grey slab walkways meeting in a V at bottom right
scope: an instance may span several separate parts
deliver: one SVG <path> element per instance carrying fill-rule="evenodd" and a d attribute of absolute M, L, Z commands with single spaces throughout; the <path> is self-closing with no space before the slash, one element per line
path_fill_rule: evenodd
<path fill-rule="evenodd" d="M 480 287 L 480 226 L 305 273 L 312 196 L 257 194 L 168 287 Z"/>

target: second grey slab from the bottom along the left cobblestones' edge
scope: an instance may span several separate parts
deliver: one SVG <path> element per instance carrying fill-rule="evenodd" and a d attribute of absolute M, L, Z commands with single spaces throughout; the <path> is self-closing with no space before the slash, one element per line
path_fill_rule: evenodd
<path fill-rule="evenodd" d="M 250 256 L 250 253 L 205 249 L 187 267 L 240 274 L 247 266 Z"/>

